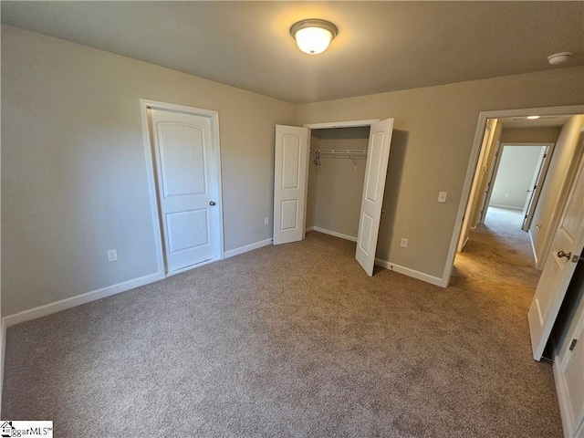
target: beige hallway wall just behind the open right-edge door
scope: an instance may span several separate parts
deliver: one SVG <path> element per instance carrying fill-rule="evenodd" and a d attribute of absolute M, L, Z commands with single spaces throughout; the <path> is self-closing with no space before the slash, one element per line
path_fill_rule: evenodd
<path fill-rule="evenodd" d="M 580 134 L 582 127 L 584 127 L 584 116 L 579 115 L 570 118 L 560 131 L 547 169 L 546 182 L 541 189 L 533 221 L 529 227 L 539 268 L 545 260 L 547 245 L 556 229 L 561 206 L 568 195 L 569 182 L 576 172 L 582 153 Z"/>

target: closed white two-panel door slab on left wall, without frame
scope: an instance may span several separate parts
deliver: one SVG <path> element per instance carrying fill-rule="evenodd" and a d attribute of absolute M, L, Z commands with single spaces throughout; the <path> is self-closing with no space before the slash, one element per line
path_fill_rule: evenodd
<path fill-rule="evenodd" d="M 149 110 L 166 272 L 220 255 L 217 164 L 211 120 Z"/>

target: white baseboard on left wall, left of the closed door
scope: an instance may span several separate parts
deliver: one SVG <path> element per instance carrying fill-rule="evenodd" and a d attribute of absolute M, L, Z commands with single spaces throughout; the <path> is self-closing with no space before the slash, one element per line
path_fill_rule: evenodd
<path fill-rule="evenodd" d="M 129 281 L 124 281 L 123 283 L 118 283 L 117 285 L 102 287 L 100 289 L 92 290 L 91 292 L 87 292 L 76 297 L 61 299 L 59 301 L 55 301 L 54 303 L 39 306 L 38 308 L 31 308 L 19 313 L 15 313 L 14 315 L 8 315 L 7 317 L 2 318 L 2 322 L 6 328 L 11 327 L 21 322 L 46 317 L 47 315 L 60 312 L 61 310 L 75 308 L 97 299 L 120 294 L 121 292 L 126 292 L 127 290 L 133 289 L 135 287 L 148 285 L 154 281 L 162 280 L 162 278 L 164 278 L 164 276 L 162 276 L 159 272 L 148 276 L 141 276 Z"/>

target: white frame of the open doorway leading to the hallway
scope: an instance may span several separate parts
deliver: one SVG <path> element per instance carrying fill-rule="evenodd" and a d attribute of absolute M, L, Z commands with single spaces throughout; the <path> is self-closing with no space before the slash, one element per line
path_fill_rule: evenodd
<path fill-rule="evenodd" d="M 476 130 L 474 131 L 473 148 L 468 160 L 466 168 L 466 177 L 464 178 L 462 193 L 458 203 L 458 212 L 456 213 L 456 222 L 454 224 L 453 235 L 450 239 L 450 248 L 446 256 L 446 264 L 444 265 L 442 281 L 439 286 L 448 287 L 450 277 L 454 269 L 454 257 L 458 248 L 458 239 L 463 229 L 464 212 L 468 204 L 471 186 L 474 180 L 474 172 L 478 156 L 481 151 L 481 144 L 485 135 L 486 120 L 488 119 L 503 119 L 507 117 L 527 117 L 527 116 L 557 116 L 569 114 L 583 114 L 584 105 L 568 105 L 564 107 L 542 107 L 542 108 L 527 108 L 523 110 L 493 110 L 481 111 L 478 115 L 478 122 L 476 123 Z"/>

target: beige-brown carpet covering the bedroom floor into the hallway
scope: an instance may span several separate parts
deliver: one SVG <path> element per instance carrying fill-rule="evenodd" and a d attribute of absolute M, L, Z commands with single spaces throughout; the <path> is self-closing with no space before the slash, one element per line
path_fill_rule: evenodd
<path fill-rule="evenodd" d="M 444 289 L 370 278 L 354 248 L 312 232 L 9 328 L 3 418 L 65 437 L 562 436 L 527 266 L 474 262 L 472 239 Z"/>

